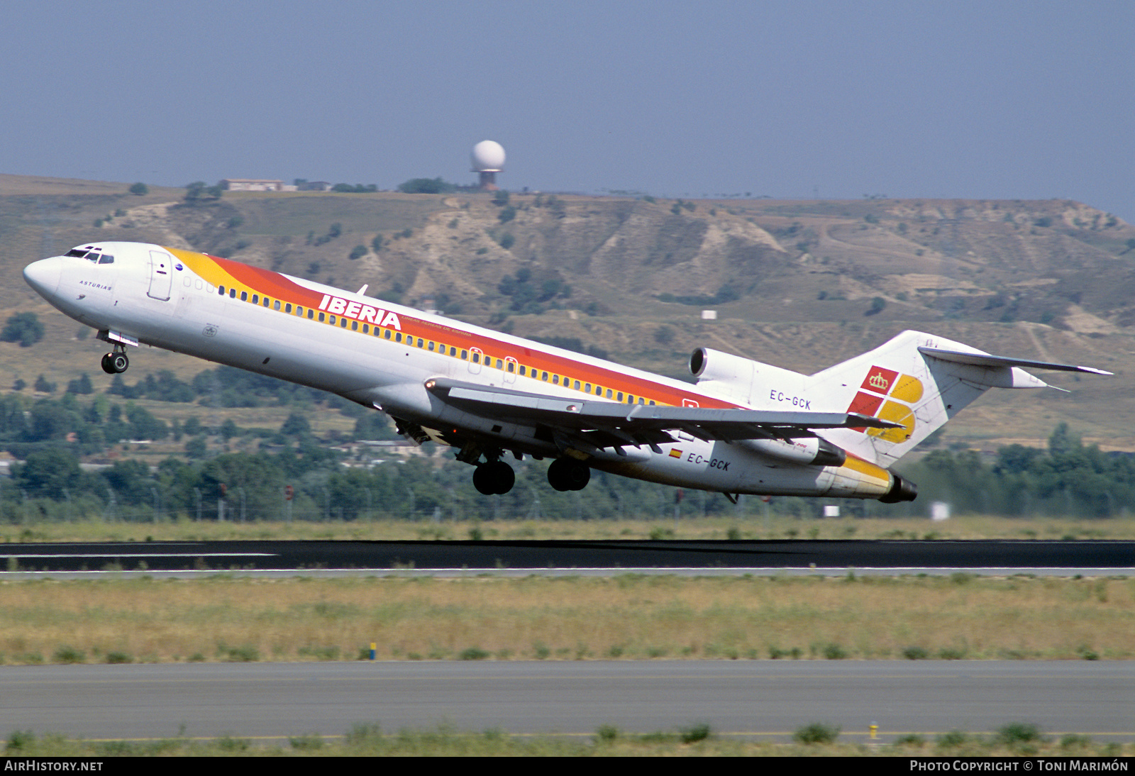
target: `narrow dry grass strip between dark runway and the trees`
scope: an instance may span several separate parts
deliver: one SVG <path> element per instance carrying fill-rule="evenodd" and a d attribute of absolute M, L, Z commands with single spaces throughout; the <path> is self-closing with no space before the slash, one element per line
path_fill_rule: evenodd
<path fill-rule="evenodd" d="M 1011 518 L 967 515 L 932 523 L 919 517 L 799 520 L 772 516 L 695 520 L 409 522 L 360 520 L 311 523 L 217 523 L 185 517 L 158 523 L 82 520 L 37 521 L 0 526 L 10 541 L 220 541 L 235 539 L 331 539 L 400 541 L 419 539 L 607 540 L 607 539 L 1135 539 L 1135 521 L 1057 517 Z"/>

